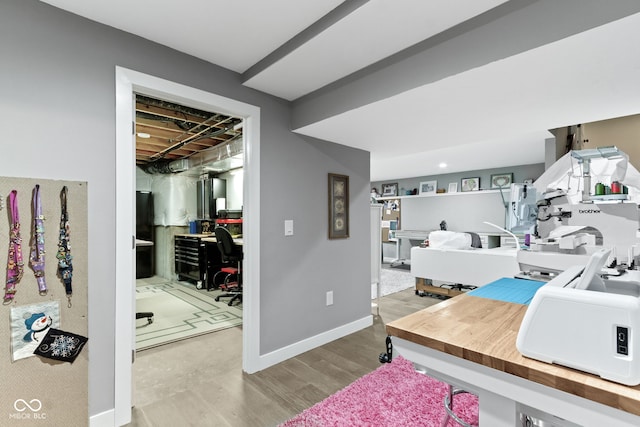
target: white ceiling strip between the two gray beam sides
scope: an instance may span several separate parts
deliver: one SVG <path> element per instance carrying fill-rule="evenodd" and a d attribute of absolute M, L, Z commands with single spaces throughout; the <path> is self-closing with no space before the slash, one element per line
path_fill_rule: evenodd
<path fill-rule="evenodd" d="M 294 100 L 505 1 L 369 1 L 245 84 Z"/>

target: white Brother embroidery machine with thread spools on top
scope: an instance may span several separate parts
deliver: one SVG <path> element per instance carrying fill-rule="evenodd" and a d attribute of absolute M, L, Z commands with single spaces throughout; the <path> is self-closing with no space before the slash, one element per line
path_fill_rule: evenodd
<path fill-rule="evenodd" d="M 635 182 L 640 176 L 615 147 L 572 151 L 545 172 L 535 184 L 540 194 L 536 232 L 529 250 L 518 253 L 527 277 L 548 279 L 568 267 L 584 266 L 603 247 L 611 249 L 607 266 L 635 266 L 640 252 L 638 204 L 631 194 L 592 194 L 595 162 L 598 181 Z"/>

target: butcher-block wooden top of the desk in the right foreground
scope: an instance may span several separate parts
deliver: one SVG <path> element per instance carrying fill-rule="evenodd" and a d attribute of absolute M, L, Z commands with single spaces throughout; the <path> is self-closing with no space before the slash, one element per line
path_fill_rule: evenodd
<path fill-rule="evenodd" d="M 516 337 L 526 310 L 521 304 L 459 295 L 387 324 L 387 333 L 640 415 L 640 386 L 625 386 L 522 356 Z"/>

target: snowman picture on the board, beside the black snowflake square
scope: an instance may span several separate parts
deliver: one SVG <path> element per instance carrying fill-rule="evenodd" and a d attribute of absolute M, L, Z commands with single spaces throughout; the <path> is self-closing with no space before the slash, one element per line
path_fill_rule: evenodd
<path fill-rule="evenodd" d="M 57 301 L 11 308 L 11 346 L 13 361 L 33 356 L 51 328 L 60 327 Z"/>

